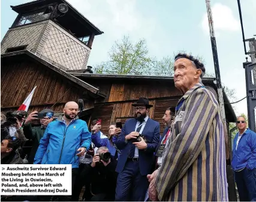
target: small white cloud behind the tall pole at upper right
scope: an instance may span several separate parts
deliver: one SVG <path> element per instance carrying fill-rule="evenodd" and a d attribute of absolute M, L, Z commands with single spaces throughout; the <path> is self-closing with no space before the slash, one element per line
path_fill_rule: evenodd
<path fill-rule="evenodd" d="M 230 7 L 216 3 L 212 7 L 213 25 L 215 35 L 219 36 L 222 31 L 236 32 L 240 30 L 240 22 L 235 19 Z M 207 13 L 204 13 L 201 20 L 201 28 L 205 34 L 209 34 L 209 23 Z"/>

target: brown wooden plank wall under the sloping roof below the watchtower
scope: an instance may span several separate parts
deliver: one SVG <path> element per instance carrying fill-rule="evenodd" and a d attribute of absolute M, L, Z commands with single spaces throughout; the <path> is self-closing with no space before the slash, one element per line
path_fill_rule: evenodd
<path fill-rule="evenodd" d="M 29 112 L 50 108 L 57 101 L 53 110 L 62 111 L 67 101 L 77 101 L 84 90 L 42 64 L 9 61 L 1 64 L 1 110 L 17 110 L 34 86 Z M 93 107 L 94 103 L 87 105 Z"/>

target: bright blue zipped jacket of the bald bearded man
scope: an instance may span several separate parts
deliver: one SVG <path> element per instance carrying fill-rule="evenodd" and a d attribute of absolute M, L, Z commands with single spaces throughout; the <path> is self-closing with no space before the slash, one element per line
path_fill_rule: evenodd
<path fill-rule="evenodd" d="M 85 147 L 88 150 L 90 145 L 91 132 L 86 122 L 76 118 L 66 126 L 61 116 L 47 126 L 34 164 L 72 164 L 72 168 L 78 168 L 77 149 Z"/>

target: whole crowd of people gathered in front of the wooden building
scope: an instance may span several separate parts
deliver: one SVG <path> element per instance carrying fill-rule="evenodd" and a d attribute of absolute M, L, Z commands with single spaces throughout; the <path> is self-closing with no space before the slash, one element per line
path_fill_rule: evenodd
<path fill-rule="evenodd" d="M 228 201 L 225 129 L 216 95 L 201 83 L 204 65 L 191 55 L 174 62 L 174 83 L 183 97 L 162 114 L 165 129 L 150 119 L 147 98 L 132 104 L 134 118 L 90 129 L 79 105 L 67 102 L 53 119 L 45 109 L 1 113 L 1 164 L 71 164 L 72 196 L 19 196 L 28 201 Z M 39 118 L 41 117 L 41 118 Z M 40 125 L 32 122 L 40 119 Z M 256 133 L 237 118 L 232 167 L 240 201 L 256 200 Z M 28 157 L 20 151 L 32 141 Z M 81 194 L 83 187 L 84 192 Z"/>

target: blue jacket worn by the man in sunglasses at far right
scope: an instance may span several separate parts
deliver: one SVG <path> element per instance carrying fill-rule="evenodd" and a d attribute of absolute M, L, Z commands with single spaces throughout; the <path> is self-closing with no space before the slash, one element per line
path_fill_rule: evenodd
<path fill-rule="evenodd" d="M 241 170 L 246 167 L 252 170 L 256 168 L 256 133 L 248 128 L 240 138 L 236 150 L 238 134 L 237 132 L 233 141 L 232 168 L 233 170 Z"/>

